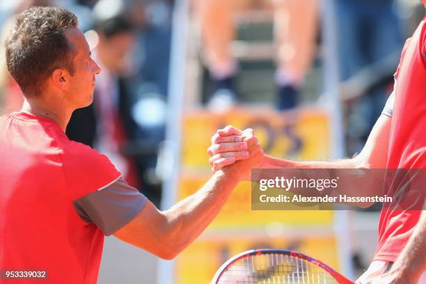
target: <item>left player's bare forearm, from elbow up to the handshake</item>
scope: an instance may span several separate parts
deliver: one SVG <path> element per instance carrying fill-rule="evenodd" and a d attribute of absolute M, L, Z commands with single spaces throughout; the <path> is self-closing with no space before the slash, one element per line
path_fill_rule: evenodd
<path fill-rule="evenodd" d="M 237 186 L 235 168 L 224 168 L 196 194 L 164 212 L 168 219 L 168 239 L 177 252 L 182 251 L 212 222 Z"/>

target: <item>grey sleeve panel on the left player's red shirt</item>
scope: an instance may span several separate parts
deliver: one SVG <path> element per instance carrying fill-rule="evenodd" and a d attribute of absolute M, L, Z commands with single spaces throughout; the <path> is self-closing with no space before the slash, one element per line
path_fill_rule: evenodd
<path fill-rule="evenodd" d="M 132 221 L 147 200 L 120 178 L 104 189 L 74 200 L 72 204 L 81 219 L 95 223 L 108 236 Z"/>

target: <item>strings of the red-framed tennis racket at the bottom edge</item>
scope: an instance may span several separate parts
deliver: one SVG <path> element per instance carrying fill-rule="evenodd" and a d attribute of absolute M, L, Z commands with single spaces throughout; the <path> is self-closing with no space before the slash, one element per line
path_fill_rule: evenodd
<path fill-rule="evenodd" d="M 334 284 L 325 269 L 312 262 L 278 253 L 250 255 L 228 267 L 219 284 Z"/>

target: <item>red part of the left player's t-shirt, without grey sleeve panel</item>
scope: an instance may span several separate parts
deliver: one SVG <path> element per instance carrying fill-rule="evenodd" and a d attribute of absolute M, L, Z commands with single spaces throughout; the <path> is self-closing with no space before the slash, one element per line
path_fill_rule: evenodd
<path fill-rule="evenodd" d="M 0 159 L 0 270 L 45 270 L 42 283 L 96 283 L 104 234 L 72 200 L 120 173 L 54 120 L 29 113 L 0 118 Z"/>

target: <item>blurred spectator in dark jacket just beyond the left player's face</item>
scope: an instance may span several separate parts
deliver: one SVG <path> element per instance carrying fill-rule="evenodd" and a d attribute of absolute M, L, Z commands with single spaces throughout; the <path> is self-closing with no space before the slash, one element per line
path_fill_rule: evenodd
<path fill-rule="evenodd" d="M 123 178 L 140 188 L 134 161 L 122 151 L 128 140 L 127 129 L 134 124 L 122 77 L 131 68 L 130 55 L 136 42 L 134 26 L 124 8 L 123 1 L 113 0 L 100 1 L 94 8 L 95 31 L 89 31 L 86 37 L 95 45 L 93 58 L 102 71 L 93 104 L 74 111 L 67 135 L 107 155 Z"/>

